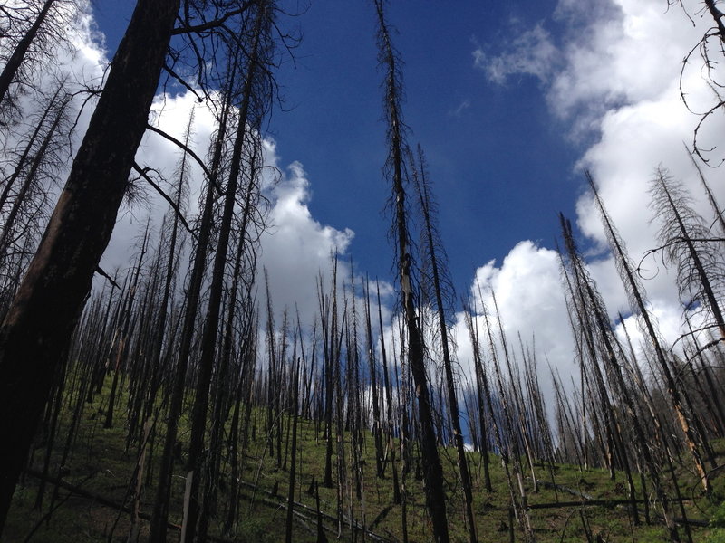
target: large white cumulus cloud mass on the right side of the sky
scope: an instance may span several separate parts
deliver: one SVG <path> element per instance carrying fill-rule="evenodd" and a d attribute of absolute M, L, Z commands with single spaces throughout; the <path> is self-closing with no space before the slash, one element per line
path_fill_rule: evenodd
<path fill-rule="evenodd" d="M 718 74 L 702 70 L 697 49 L 681 76 L 683 58 L 711 25 L 707 17 L 688 18 L 686 13 L 694 14 L 698 8 L 694 1 L 684 2 L 684 11 L 668 10 L 662 0 L 560 0 L 548 22 L 560 28 L 556 35 L 547 30 L 547 23 L 540 23 L 505 43 L 498 55 L 481 48 L 474 52 L 475 66 L 493 83 L 506 83 L 517 74 L 535 76 L 550 114 L 568 125 L 572 140 L 594 141 L 586 144 L 575 167 L 592 172 L 635 264 L 657 246 L 648 189 L 658 165 L 668 167 L 691 190 L 698 212 L 708 219 L 712 216 L 683 145 L 691 147 L 702 119 L 693 111 L 701 114 L 718 101 L 705 77 Z M 541 52 L 534 51 L 536 44 Z M 717 147 L 723 133 L 722 115 L 705 119 L 699 131 L 701 148 L 714 148 L 705 155 L 712 165 L 725 156 Z M 713 180 L 720 174 L 705 170 Z M 714 182 L 711 186 L 720 203 L 725 202 L 725 186 Z M 621 281 L 606 252 L 604 229 L 593 198 L 585 191 L 576 203 L 576 214 L 592 276 L 610 317 L 614 319 L 620 310 L 628 314 Z M 572 368 L 574 351 L 559 300 L 554 255 L 549 253 L 533 243 L 519 243 L 499 267 L 493 262 L 480 267 L 476 279 L 497 292 L 507 332 L 520 331 L 524 338 L 536 334 L 539 352 L 565 373 Z M 683 330 L 673 273 L 652 258 L 645 259 L 642 267 L 652 311 L 662 336 L 672 343 Z M 639 332 L 632 319 L 627 322 L 636 342 Z"/>

